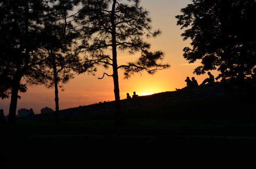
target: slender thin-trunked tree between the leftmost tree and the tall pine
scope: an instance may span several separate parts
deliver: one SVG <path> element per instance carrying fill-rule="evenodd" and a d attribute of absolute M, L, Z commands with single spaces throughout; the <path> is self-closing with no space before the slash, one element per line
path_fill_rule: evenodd
<path fill-rule="evenodd" d="M 43 21 L 43 49 L 49 59 L 45 62 L 46 86 L 54 87 L 56 123 L 59 123 L 59 90 L 74 76 L 74 69 L 80 65 L 78 55 L 73 52 L 75 39 L 79 36 L 73 23 L 73 9 L 78 0 L 59 0 L 51 4 L 52 8 Z M 70 14 L 71 13 L 71 14 Z"/>

